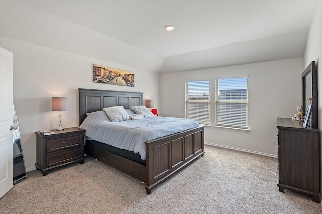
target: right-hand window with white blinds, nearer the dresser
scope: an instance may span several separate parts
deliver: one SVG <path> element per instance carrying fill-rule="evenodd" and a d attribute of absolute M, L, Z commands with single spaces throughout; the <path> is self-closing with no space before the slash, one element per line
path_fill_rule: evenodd
<path fill-rule="evenodd" d="M 216 126 L 248 129 L 247 77 L 216 79 Z"/>

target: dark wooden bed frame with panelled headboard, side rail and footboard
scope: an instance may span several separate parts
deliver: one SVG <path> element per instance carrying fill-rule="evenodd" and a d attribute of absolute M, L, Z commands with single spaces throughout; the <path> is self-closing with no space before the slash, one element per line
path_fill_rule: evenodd
<path fill-rule="evenodd" d="M 79 88 L 79 123 L 86 113 L 110 106 L 143 105 L 143 93 Z M 86 144 L 84 153 L 145 183 L 146 193 L 180 169 L 203 156 L 204 126 L 145 142 L 146 164 Z"/>

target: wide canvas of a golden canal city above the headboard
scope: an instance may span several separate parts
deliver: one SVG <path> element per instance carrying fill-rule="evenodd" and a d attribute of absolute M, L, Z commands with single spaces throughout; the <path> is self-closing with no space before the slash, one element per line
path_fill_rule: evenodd
<path fill-rule="evenodd" d="M 134 73 L 102 65 L 93 66 L 93 82 L 134 87 Z"/>

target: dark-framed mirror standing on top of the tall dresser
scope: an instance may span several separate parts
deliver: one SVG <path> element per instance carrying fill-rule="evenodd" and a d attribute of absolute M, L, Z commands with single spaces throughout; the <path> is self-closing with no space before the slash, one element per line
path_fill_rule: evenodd
<path fill-rule="evenodd" d="M 302 73 L 302 111 L 305 113 L 312 97 L 311 128 L 317 128 L 317 87 L 315 61 L 312 61 Z"/>

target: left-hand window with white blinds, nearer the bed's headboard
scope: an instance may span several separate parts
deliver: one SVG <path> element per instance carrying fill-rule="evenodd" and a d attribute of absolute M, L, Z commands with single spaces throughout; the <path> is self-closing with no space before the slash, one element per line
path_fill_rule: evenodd
<path fill-rule="evenodd" d="M 186 118 L 209 125 L 209 80 L 186 82 Z"/>

